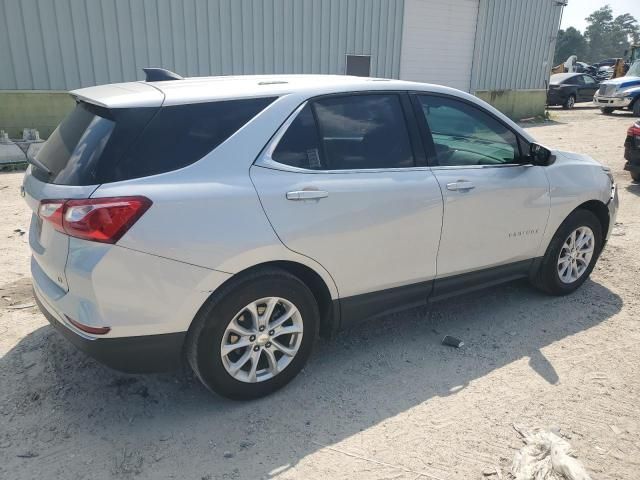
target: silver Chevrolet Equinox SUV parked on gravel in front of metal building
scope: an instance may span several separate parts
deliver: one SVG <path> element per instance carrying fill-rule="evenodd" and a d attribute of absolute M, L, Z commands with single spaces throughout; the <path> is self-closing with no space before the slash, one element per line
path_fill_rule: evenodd
<path fill-rule="evenodd" d="M 120 370 L 186 357 L 259 397 L 318 333 L 521 277 L 570 293 L 614 224 L 606 168 L 457 90 L 156 73 L 71 92 L 23 185 L 41 310 Z"/>

